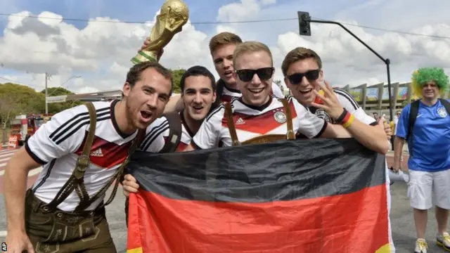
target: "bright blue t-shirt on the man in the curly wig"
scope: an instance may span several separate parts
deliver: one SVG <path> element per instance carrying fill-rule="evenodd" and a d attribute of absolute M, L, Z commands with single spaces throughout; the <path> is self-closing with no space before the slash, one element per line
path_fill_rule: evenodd
<path fill-rule="evenodd" d="M 410 110 L 411 104 L 401 111 L 396 136 L 406 138 Z M 420 101 L 408 147 L 410 154 L 413 151 L 408 160 L 409 169 L 431 172 L 450 169 L 450 116 L 439 100 L 432 106 Z"/>

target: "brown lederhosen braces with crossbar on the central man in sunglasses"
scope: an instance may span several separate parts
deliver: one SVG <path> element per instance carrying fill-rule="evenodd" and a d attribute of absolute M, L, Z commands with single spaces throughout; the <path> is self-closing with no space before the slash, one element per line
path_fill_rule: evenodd
<path fill-rule="evenodd" d="M 288 124 L 288 132 L 286 134 L 266 134 L 262 136 L 257 136 L 255 138 L 251 138 L 250 140 L 244 141 L 243 143 L 240 143 L 240 141 L 238 140 L 238 134 L 236 134 L 236 125 L 234 124 L 233 121 L 233 110 L 231 110 L 231 105 L 229 103 L 225 103 L 225 117 L 233 145 L 269 143 L 272 141 L 279 141 L 285 139 L 294 140 L 295 133 L 293 131 L 293 117 L 290 111 L 288 100 L 286 100 L 285 98 L 281 98 L 280 100 L 281 103 L 283 103 L 283 108 L 286 113 L 286 124 Z"/>

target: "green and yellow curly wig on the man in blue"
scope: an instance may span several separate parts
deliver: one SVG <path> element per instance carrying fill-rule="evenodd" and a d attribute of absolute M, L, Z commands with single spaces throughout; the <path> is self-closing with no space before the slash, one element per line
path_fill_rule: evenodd
<path fill-rule="evenodd" d="M 435 81 L 441 95 L 449 90 L 449 77 L 441 67 L 421 67 L 413 72 L 411 78 L 413 94 L 421 97 L 423 84 Z"/>

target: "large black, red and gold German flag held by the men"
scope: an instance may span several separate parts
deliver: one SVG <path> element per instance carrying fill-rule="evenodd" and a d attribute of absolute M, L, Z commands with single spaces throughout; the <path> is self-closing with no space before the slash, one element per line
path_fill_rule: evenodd
<path fill-rule="evenodd" d="M 354 139 L 137 152 L 128 253 L 392 251 L 385 156 Z"/>

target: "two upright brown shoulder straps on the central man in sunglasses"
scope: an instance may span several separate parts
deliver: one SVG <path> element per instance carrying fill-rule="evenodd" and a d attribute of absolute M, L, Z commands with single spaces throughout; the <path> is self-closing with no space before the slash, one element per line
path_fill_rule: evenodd
<path fill-rule="evenodd" d="M 293 117 L 292 112 L 290 110 L 290 106 L 288 103 L 288 100 L 285 98 L 281 98 L 281 103 L 283 103 L 283 108 L 286 112 L 286 124 L 288 128 L 288 132 L 286 134 L 286 138 L 288 140 L 295 140 L 295 132 L 293 127 Z M 233 121 L 233 110 L 231 110 L 230 103 L 225 103 L 225 117 L 226 117 L 226 124 L 228 125 L 231 141 L 233 145 L 241 145 L 240 141 L 238 140 L 238 134 L 236 134 L 236 126 Z"/>

